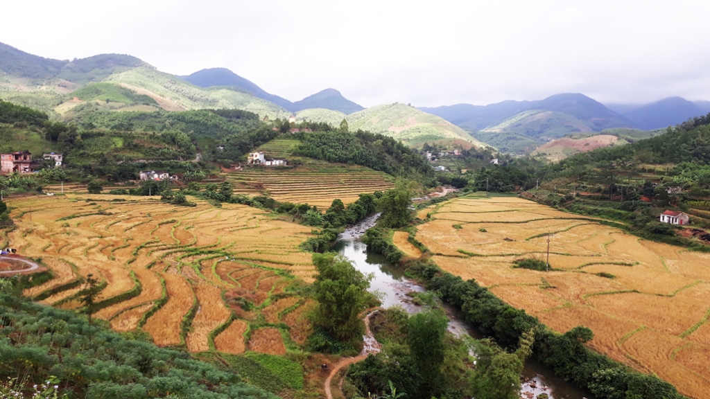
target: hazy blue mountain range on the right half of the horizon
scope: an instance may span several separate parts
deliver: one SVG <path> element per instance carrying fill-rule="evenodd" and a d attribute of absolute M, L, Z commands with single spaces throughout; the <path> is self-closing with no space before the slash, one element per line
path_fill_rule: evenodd
<path fill-rule="evenodd" d="M 680 97 L 645 105 L 605 106 L 584 94 L 555 94 L 537 101 L 504 101 L 486 106 L 456 104 L 422 107 L 452 121 L 471 136 L 501 151 L 528 153 L 537 146 L 576 133 L 605 129 L 653 130 L 710 112 L 710 102 Z"/>

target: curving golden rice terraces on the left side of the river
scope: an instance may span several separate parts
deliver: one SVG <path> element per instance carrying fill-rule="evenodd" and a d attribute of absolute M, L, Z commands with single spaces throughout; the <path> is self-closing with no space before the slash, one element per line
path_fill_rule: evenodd
<path fill-rule="evenodd" d="M 54 278 L 25 294 L 67 309 L 89 274 L 104 288 L 94 317 L 142 329 L 160 346 L 283 354 L 305 343 L 311 228 L 237 204 L 175 207 L 148 197 L 67 195 L 8 201 L 11 246 Z M 251 304 L 251 305 L 250 305 Z M 248 310 L 244 310 L 247 308 Z"/>

